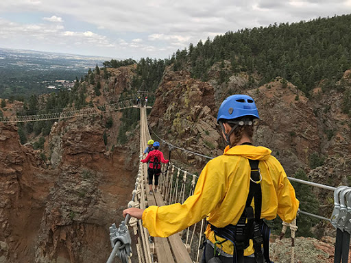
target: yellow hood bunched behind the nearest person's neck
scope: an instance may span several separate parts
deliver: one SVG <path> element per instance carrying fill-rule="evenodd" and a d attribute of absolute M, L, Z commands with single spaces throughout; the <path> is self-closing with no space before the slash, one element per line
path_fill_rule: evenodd
<path fill-rule="evenodd" d="M 268 160 L 271 156 L 271 150 L 262 146 L 237 145 L 232 148 L 229 146 L 224 149 L 224 155 L 241 155 L 251 160 Z"/>

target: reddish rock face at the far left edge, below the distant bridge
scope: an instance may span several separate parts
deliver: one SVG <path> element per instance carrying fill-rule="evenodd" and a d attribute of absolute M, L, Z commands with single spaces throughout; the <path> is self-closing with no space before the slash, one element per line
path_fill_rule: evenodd
<path fill-rule="evenodd" d="M 5 262 L 32 262 L 55 173 L 19 143 L 14 125 L 0 123 L 0 149 L 0 255 Z"/>

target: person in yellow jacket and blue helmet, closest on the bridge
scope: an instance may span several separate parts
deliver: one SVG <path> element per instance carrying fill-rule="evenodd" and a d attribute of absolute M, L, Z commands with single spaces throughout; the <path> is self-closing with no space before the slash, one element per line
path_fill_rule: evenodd
<path fill-rule="evenodd" d="M 290 223 L 298 212 L 299 201 L 271 150 L 252 145 L 256 118 L 258 110 L 251 97 L 232 95 L 225 99 L 217 123 L 228 146 L 223 155 L 206 164 L 194 194 L 182 204 L 149 206 L 145 210 L 129 208 L 123 216 L 142 218 L 149 234 L 160 237 L 171 236 L 207 216 L 202 262 L 211 258 L 210 262 L 223 263 L 269 262 L 269 229 L 261 218 L 272 220 L 278 214 L 282 221 Z M 254 195 L 256 214 L 249 193 L 250 197 Z"/>

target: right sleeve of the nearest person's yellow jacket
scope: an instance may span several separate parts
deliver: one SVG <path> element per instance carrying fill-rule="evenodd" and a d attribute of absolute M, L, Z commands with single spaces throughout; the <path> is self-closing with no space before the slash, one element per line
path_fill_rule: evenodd
<path fill-rule="evenodd" d="M 291 223 L 296 217 L 299 208 L 299 201 L 295 197 L 295 189 L 291 185 L 282 165 L 278 162 L 280 180 L 278 185 L 278 210 L 277 214 L 287 223 Z"/>

